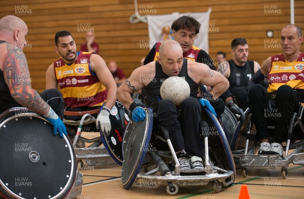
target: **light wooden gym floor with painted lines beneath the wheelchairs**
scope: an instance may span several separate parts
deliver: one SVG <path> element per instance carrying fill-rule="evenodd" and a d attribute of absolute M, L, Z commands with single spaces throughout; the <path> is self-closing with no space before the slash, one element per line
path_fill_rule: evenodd
<path fill-rule="evenodd" d="M 93 169 L 93 168 L 92 168 Z M 223 187 L 219 193 L 214 193 L 212 184 L 206 186 L 179 187 L 176 195 L 169 195 L 166 191 L 166 183 L 162 183 L 157 189 L 131 187 L 124 189 L 121 182 L 121 167 L 119 165 L 107 165 L 97 170 L 81 170 L 84 174 L 83 189 L 78 199 L 101 198 L 200 198 L 220 199 L 239 198 L 242 184 L 248 187 L 251 199 L 304 198 L 304 167 L 288 167 L 288 177 L 283 179 L 281 169 L 248 169 L 248 177 L 243 178 L 241 170 L 237 170 L 235 183 L 229 187 Z M 245 198 L 242 198 L 245 199 Z"/>

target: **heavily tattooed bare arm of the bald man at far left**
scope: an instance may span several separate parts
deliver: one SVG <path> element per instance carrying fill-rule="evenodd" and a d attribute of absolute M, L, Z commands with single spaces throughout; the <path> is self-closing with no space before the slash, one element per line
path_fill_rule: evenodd
<path fill-rule="evenodd" d="M 24 53 L 7 44 L 3 58 L 3 72 L 12 97 L 22 106 L 38 113 L 48 111 L 48 104 L 31 88 L 31 78 Z"/>

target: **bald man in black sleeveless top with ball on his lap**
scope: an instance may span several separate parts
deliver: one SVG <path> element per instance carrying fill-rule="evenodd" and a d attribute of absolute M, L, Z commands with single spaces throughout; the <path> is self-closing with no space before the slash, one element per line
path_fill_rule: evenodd
<path fill-rule="evenodd" d="M 139 104 L 133 102 L 131 94 L 145 88 L 147 103 L 156 114 L 154 121 L 168 130 L 181 169 L 202 169 L 203 148 L 199 130 L 201 105 L 208 107 L 210 103 L 205 99 L 199 101 L 196 97 L 198 85 L 211 86 L 210 93 L 216 99 L 228 88 L 228 81 L 205 64 L 183 59 L 182 49 L 176 41 L 163 42 L 157 59 L 135 69 L 118 89 L 117 98 L 132 111 L 133 120 L 143 121 L 145 113 Z M 160 97 L 161 84 L 170 76 L 185 78 L 191 88 L 191 97 L 178 107 Z M 211 105 L 209 110 L 215 113 Z"/>

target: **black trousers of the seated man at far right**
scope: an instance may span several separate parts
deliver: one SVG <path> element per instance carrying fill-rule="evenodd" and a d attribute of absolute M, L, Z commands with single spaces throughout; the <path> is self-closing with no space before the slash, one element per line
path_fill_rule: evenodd
<path fill-rule="evenodd" d="M 286 140 L 290 118 L 299 110 L 299 99 L 290 86 L 281 86 L 275 100 L 269 100 L 262 85 L 254 85 L 249 91 L 249 108 L 260 139 L 268 138 L 267 123 L 275 124 L 275 142 Z"/>

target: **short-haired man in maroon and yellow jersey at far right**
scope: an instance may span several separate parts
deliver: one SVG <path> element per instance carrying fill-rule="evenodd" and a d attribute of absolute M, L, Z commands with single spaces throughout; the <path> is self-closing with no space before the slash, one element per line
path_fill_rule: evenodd
<path fill-rule="evenodd" d="M 283 154 L 282 143 L 286 140 L 291 115 L 298 112 L 300 100 L 304 99 L 304 53 L 299 51 L 302 41 L 300 27 L 294 24 L 284 26 L 281 31 L 283 54 L 267 58 L 260 72 L 252 78 L 258 83 L 267 75 L 269 82 L 268 90 L 260 84 L 249 90 L 252 120 L 261 140 L 260 153 Z M 267 123 L 271 121 L 275 124 L 275 142 L 272 144 L 267 130 Z"/>

